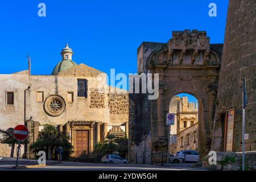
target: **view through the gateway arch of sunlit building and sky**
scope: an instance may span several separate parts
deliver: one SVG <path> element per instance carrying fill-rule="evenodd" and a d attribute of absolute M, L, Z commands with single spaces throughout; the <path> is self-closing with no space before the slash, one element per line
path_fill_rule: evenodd
<path fill-rule="evenodd" d="M 175 123 L 170 126 L 170 154 L 180 150 L 198 151 L 199 102 L 188 93 L 172 97 L 169 113 L 175 114 Z"/>

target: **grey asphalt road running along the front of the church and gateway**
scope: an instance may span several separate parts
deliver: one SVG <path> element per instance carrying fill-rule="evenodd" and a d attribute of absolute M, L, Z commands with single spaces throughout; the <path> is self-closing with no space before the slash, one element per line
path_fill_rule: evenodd
<path fill-rule="evenodd" d="M 1 158 L 1 157 L 0 157 Z M 15 158 L 0 159 L 0 171 L 17 170 L 15 166 Z M 56 161 L 48 160 L 49 166 L 23 168 L 21 171 L 180 171 L 180 170 L 201 170 L 192 169 L 192 164 L 169 164 L 164 166 L 148 165 L 148 164 L 101 164 L 101 163 L 77 163 L 63 162 L 56 164 Z M 37 160 L 19 159 L 19 166 L 36 165 Z"/>

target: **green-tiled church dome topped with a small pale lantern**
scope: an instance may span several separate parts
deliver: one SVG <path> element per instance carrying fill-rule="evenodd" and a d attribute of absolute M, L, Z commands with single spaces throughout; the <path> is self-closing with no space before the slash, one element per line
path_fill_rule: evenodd
<path fill-rule="evenodd" d="M 62 49 L 60 54 L 62 55 L 62 60 L 53 69 L 52 75 L 58 75 L 59 72 L 65 71 L 77 65 L 74 61 L 72 61 L 73 52 L 72 49 L 68 47 L 68 44 L 66 44 L 66 47 Z"/>

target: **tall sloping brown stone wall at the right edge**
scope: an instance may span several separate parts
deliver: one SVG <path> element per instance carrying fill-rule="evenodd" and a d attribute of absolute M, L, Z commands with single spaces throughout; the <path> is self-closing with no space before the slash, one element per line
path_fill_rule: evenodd
<path fill-rule="evenodd" d="M 226 110 L 236 109 L 234 151 L 242 151 L 242 79 L 246 77 L 246 151 L 256 150 L 256 6 L 254 0 L 229 1 L 218 83 L 212 150 L 224 150 Z"/>

